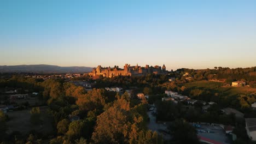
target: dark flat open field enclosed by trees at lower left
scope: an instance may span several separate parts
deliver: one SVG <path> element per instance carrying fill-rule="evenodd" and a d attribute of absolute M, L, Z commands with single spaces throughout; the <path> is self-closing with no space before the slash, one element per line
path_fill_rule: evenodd
<path fill-rule="evenodd" d="M 51 118 L 46 112 L 48 109 L 47 106 L 40 107 L 41 118 L 43 119 L 43 123 L 39 125 L 32 125 L 30 122 L 30 110 L 22 110 L 22 111 L 10 111 L 7 115 L 10 118 L 10 121 L 7 122 L 8 131 L 10 134 L 13 131 L 20 131 L 22 134 L 27 134 L 31 130 L 36 130 L 39 133 L 51 133 L 53 131 L 51 125 Z"/>

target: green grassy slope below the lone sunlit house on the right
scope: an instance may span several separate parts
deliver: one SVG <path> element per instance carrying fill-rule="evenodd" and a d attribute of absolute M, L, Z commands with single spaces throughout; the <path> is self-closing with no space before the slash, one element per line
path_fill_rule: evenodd
<path fill-rule="evenodd" d="M 223 106 L 250 107 L 256 97 L 249 94 L 255 93 L 256 88 L 251 87 L 225 87 L 222 82 L 194 81 L 186 83 L 183 92 L 191 98 L 205 101 L 214 101 Z"/>

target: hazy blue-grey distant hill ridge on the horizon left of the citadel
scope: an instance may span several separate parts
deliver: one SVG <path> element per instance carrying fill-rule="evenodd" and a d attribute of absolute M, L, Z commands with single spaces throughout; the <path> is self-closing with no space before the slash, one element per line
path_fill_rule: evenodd
<path fill-rule="evenodd" d="M 0 73 L 88 73 L 91 67 L 59 67 L 57 65 L 0 65 Z"/>

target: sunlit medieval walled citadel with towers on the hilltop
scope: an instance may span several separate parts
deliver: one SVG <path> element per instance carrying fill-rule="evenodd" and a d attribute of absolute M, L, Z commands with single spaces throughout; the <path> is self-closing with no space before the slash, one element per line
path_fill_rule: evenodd
<path fill-rule="evenodd" d="M 165 65 L 162 65 L 162 67 L 160 67 L 159 65 L 155 65 L 155 67 L 149 67 L 149 65 L 146 65 L 146 67 L 141 67 L 138 66 L 138 64 L 136 66 L 125 64 L 124 69 L 120 69 L 118 66 L 115 66 L 114 68 L 102 68 L 101 65 L 98 65 L 97 68 L 92 69 L 92 72 L 89 75 L 103 75 L 103 77 L 114 77 L 118 75 L 141 76 L 146 74 L 166 74 L 166 67 Z"/>

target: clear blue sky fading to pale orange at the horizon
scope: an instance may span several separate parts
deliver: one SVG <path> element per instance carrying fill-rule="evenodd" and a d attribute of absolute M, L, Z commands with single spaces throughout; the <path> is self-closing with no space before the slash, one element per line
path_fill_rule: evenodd
<path fill-rule="evenodd" d="M 0 65 L 256 66 L 256 1 L 0 1 Z"/>

